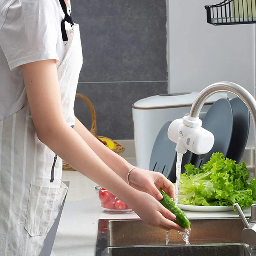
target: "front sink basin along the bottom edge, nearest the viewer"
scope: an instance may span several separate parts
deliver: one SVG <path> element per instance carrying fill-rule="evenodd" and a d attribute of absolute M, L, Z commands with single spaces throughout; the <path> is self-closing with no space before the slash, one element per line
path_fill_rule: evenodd
<path fill-rule="evenodd" d="M 245 245 L 144 246 L 108 248 L 110 256 L 250 256 Z"/>

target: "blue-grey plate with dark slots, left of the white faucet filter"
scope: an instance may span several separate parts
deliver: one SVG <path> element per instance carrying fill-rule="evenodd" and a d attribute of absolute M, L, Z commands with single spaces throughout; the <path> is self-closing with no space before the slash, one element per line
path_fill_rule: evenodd
<path fill-rule="evenodd" d="M 172 121 L 163 125 L 159 131 L 150 157 L 150 170 L 162 173 L 171 182 L 176 182 L 176 143 L 169 140 L 167 131 Z M 185 164 L 190 162 L 191 152 L 184 154 L 182 159 L 182 173 L 185 171 Z"/>

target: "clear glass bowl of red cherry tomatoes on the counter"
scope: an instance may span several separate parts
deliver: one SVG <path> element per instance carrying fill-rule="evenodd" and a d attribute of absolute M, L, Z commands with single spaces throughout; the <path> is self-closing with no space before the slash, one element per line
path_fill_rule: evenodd
<path fill-rule="evenodd" d="M 95 191 L 98 197 L 98 204 L 104 212 L 115 214 L 133 212 L 128 205 L 101 186 L 95 187 Z"/>

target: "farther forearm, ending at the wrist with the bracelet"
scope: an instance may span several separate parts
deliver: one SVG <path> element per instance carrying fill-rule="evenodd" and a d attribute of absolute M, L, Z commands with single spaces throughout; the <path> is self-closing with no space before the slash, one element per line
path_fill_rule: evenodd
<path fill-rule="evenodd" d="M 74 130 L 83 138 L 88 146 L 125 182 L 127 173 L 133 167 L 123 157 L 119 156 L 95 138 L 84 125 L 76 118 Z"/>

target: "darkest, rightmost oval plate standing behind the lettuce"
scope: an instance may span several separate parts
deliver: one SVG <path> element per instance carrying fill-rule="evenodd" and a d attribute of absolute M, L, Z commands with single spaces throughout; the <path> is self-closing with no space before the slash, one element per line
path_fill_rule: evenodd
<path fill-rule="evenodd" d="M 240 162 L 249 135 L 250 112 L 240 98 L 230 100 L 233 112 L 233 131 L 227 157 Z"/>

